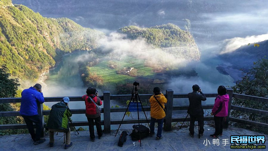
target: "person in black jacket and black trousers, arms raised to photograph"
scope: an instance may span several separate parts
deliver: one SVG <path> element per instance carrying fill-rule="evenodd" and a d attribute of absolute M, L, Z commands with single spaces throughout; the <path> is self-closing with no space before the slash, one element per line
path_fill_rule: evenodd
<path fill-rule="evenodd" d="M 190 136 L 194 137 L 194 122 L 199 122 L 200 136 L 204 133 L 204 111 L 201 101 L 205 101 L 207 98 L 201 91 L 199 85 L 193 85 L 193 92 L 188 93 L 189 107 L 187 113 L 190 115 Z M 200 93 L 200 94 L 199 94 Z"/>

